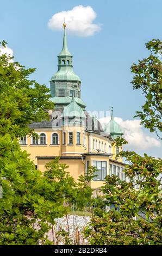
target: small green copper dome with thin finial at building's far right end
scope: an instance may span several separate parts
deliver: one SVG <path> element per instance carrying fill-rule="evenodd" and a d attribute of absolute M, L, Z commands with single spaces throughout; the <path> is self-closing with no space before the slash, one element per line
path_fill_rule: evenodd
<path fill-rule="evenodd" d="M 114 120 L 113 107 L 111 110 L 111 120 L 109 121 L 108 124 L 104 126 L 104 132 L 110 134 L 113 139 L 123 135 L 121 126 L 117 124 L 116 121 Z"/>

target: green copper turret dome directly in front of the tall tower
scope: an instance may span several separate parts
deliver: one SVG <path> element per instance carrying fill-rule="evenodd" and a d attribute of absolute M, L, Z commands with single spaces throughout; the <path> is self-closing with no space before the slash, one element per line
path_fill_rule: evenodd
<path fill-rule="evenodd" d="M 80 107 L 76 101 L 74 101 L 74 97 L 72 98 L 71 103 L 64 108 L 62 117 L 66 118 L 86 118 L 82 107 Z"/>

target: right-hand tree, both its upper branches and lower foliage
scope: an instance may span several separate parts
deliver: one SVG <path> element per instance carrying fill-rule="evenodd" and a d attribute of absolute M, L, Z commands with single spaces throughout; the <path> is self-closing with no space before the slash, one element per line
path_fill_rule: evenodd
<path fill-rule="evenodd" d="M 159 44 L 159 40 L 149 41 L 146 47 L 151 50 L 150 56 L 132 66 L 133 88 L 141 88 L 146 97 L 142 111 L 136 112 L 136 116 L 157 134 L 161 131 L 162 88 L 162 63 L 155 56 Z M 128 142 L 118 137 L 115 143 L 121 147 Z M 129 163 L 124 168 L 127 182 L 115 175 L 107 176 L 101 188 L 102 205 L 110 209 L 96 209 L 92 230 L 86 227 L 85 235 L 91 245 L 161 245 L 162 161 L 134 151 L 121 151 L 117 156 L 126 157 Z"/>

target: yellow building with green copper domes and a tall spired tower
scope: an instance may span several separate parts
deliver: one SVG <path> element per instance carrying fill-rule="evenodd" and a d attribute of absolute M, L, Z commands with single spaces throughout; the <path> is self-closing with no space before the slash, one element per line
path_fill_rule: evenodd
<path fill-rule="evenodd" d="M 124 179 L 122 159 L 116 160 L 121 150 L 112 145 L 123 132 L 113 118 L 104 130 L 96 119 L 86 112 L 81 97 L 81 81 L 73 71 L 73 56 L 68 51 L 64 23 L 63 48 L 58 55 L 58 71 L 50 80 L 51 101 L 55 102 L 53 111 L 49 111 L 50 121 L 32 123 L 30 127 L 39 135 L 21 138 L 21 148 L 27 150 L 35 166 L 45 169 L 45 164 L 60 157 L 60 163 L 66 163 L 70 175 L 78 180 L 85 175 L 89 166 L 97 167 L 97 177 L 91 181 L 91 187 L 103 185 L 106 175 L 115 174 Z"/>

